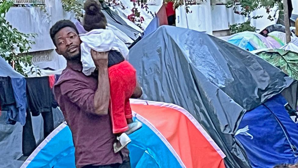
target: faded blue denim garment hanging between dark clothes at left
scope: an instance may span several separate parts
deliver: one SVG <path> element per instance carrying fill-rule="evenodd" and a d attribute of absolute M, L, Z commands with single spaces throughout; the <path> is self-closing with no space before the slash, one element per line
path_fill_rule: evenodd
<path fill-rule="evenodd" d="M 19 121 L 21 125 L 25 125 L 27 109 L 26 80 L 25 78 L 11 78 L 11 84 L 13 86 L 13 95 L 18 110 L 17 121 Z"/>

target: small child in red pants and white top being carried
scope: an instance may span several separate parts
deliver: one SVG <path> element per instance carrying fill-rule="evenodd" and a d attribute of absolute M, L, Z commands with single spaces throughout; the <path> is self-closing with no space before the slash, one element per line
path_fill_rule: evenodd
<path fill-rule="evenodd" d="M 81 54 L 83 73 L 90 75 L 95 70 L 92 60 L 91 49 L 98 52 L 110 51 L 108 57 L 108 73 L 110 79 L 110 114 L 112 120 L 113 133 L 121 142 L 114 144 L 115 153 L 120 151 L 131 140 L 127 134 L 133 133 L 142 127 L 139 121 L 133 122 L 132 112 L 129 104 L 129 98 L 136 89 L 136 70 L 129 62 L 123 59 L 127 58 L 129 50 L 111 30 L 106 30 L 107 20 L 101 12 L 101 5 L 97 0 L 87 0 L 84 4 L 84 29 L 88 31 L 81 34 Z M 115 54 L 115 51 L 118 51 Z M 113 54 L 111 54 L 113 52 Z M 121 57 L 118 59 L 117 57 Z M 123 56 L 123 57 L 122 57 Z M 115 60 L 121 60 L 115 62 Z M 113 62 L 113 63 L 111 63 Z M 125 134 L 126 133 L 126 134 Z"/>

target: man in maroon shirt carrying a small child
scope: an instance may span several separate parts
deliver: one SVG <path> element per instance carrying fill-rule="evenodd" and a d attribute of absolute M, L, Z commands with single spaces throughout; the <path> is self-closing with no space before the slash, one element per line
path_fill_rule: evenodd
<path fill-rule="evenodd" d="M 54 94 L 71 129 L 77 167 L 130 167 L 128 150 L 114 153 L 115 136 L 108 115 L 110 84 L 108 55 L 121 61 L 115 53 L 91 51 L 97 72 L 82 73 L 81 40 L 69 20 L 58 21 L 50 30 L 56 52 L 67 60 L 67 67 L 54 86 Z M 114 55 L 113 55 L 114 54 Z M 109 60 L 110 61 L 110 60 Z M 115 61 L 115 60 L 114 60 Z M 117 61 L 117 60 L 116 60 Z M 138 86 L 136 97 L 142 94 Z"/>

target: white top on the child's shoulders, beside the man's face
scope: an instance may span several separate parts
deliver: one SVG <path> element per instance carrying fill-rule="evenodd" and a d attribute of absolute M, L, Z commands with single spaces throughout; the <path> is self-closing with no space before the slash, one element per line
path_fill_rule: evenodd
<path fill-rule="evenodd" d="M 124 59 L 128 57 L 129 50 L 125 43 L 120 40 L 111 30 L 94 29 L 88 33 L 80 34 L 81 43 L 81 61 L 83 73 L 91 75 L 95 70 L 95 64 L 91 57 L 91 49 L 97 52 L 106 52 L 116 50 L 122 54 Z"/>

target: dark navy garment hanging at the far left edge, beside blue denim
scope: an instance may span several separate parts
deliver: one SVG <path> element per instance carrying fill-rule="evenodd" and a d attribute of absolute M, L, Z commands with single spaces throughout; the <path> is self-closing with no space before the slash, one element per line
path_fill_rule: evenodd
<path fill-rule="evenodd" d="M 19 118 L 19 112 L 16 108 L 10 77 L 0 77 L 0 100 L 2 111 L 7 111 L 6 124 L 15 125 Z"/>

